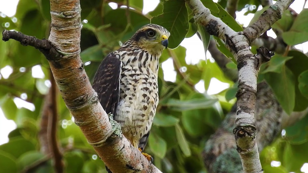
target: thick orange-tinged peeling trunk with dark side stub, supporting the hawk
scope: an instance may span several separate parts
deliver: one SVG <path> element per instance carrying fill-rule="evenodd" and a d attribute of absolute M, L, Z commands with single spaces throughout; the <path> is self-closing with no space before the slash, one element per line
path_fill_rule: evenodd
<path fill-rule="evenodd" d="M 15 39 L 24 46 L 39 49 L 46 56 L 75 123 L 112 172 L 161 172 L 128 142 L 121 134 L 120 126 L 112 120 L 112 116 L 108 117 L 98 102 L 80 58 L 79 0 L 50 0 L 50 6 L 51 32 L 48 40 L 8 30 L 3 30 L 2 40 Z"/>

